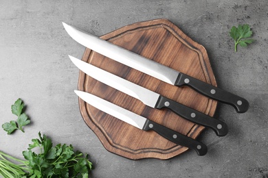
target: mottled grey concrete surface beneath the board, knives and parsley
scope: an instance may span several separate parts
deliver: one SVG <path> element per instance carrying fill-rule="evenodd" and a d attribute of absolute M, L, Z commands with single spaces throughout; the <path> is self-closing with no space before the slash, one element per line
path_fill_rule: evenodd
<path fill-rule="evenodd" d="M 16 119 L 10 106 L 21 98 L 32 124 L 8 136 L 0 128 L 0 150 L 21 157 L 38 131 L 91 155 L 91 177 L 268 177 L 268 1 L 31 1 L 0 3 L 0 123 Z M 170 160 L 129 160 L 109 153 L 85 125 L 74 94 L 85 47 L 72 40 L 62 21 L 97 36 L 155 18 L 167 18 L 208 51 L 220 88 L 245 97 L 251 107 L 237 114 L 219 103 L 215 117 L 229 126 L 223 138 L 205 130 L 198 140 L 208 154 L 188 151 Z M 228 35 L 248 23 L 256 42 L 238 47 Z"/>

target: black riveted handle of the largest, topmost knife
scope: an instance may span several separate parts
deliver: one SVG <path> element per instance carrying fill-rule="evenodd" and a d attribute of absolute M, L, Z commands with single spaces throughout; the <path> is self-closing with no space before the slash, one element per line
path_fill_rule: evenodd
<path fill-rule="evenodd" d="M 204 94 L 211 99 L 234 106 L 238 113 L 246 112 L 249 109 L 249 102 L 246 99 L 238 97 L 236 94 L 232 94 L 225 90 L 221 90 L 220 88 L 207 84 L 199 79 L 195 79 L 194 77 L 190 77 L 184 73 L 179 73 L 175 86 L 184 85 L 190 86 L 194 90 L 197 90 L 197 92 Z"/>

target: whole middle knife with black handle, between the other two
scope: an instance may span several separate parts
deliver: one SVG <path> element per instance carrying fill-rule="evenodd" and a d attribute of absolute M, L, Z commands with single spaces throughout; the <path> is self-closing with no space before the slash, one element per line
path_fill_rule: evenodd
<path fill-rule="evenodd" d="M 78 60 L 71 55 L 69 55 L 69 58 L 81 71 L 90 77 L 93 77 L 94 79 L 107 84 L 116 90 L 129 94 L 131 97 L 139 99 L 150 107 L 157 109 L 166 107 L 193 123 L 213 129 L 217 136 L 225 136 L 228 132 L 227 125 L 221 120 L 212 118 L 206 114 L 198 112 L 197 110 L 193 110 L 192 108 L 182 105 L 181 103 L 177 103 L 176 101 L 172 101 L 171 99 L 157 94 L 156 92 L 134 84 L 131 81 L 118 77 L 117 75 L 113 75 L 112 73 L 88 64 L 87 62 L 83 62 L 82 60 Z"/>

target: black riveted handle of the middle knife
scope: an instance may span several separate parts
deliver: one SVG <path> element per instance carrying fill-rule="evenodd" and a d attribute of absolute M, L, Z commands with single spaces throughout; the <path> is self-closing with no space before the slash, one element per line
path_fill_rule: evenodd
<path fill-rule="evenodd" d="M 176 101 L 160 95 L 155 108 L 161 109 L 163 107 L 172 110 L 179 116 L 186 118 L 193 123 L 213 129 L 217 136 L 226 136 L 228 132 L 227 125 L 221 120 L 212 118 L 206 114 L 203 114 L 202 112 L 198 112 L 197 110 L 187 107 L 186 105 L 177 103 Z"/>

